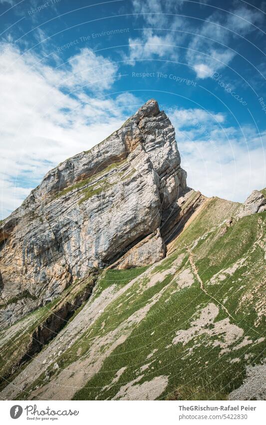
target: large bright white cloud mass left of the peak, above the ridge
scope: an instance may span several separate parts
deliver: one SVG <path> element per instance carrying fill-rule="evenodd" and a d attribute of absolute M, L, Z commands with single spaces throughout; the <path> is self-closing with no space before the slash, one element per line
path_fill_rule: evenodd
<path fill-rule="evenodd" d="M 0 218 L 19 206 L 49 169 L 100 142 L 140 105 L 132 94 L 115 100 L 102 96 L 116 67 L 88 49 L 55 69 L 36 55 L 1 47 Z M 94 74 L 92 67 L 97 67 Z M 97 75 L 98 98 L 88 84 Z"/>

